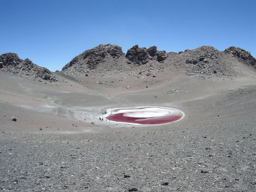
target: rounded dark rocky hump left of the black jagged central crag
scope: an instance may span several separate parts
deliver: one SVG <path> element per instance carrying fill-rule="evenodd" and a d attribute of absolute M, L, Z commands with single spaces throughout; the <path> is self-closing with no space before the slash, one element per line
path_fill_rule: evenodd
<path fill-rule="evenodd" d="M 97 65 L 105 62 L 106 58 L 116 59 L 124 56 L 122 48 L 117 45 L 106 44 L 96 46 L 90 50 L 84 51 L 82 54 L 74 57 L 62 70 L 67 70 L 73 65 L 80 65 L 83 68 L 90 70 L 96 69 Z"/>

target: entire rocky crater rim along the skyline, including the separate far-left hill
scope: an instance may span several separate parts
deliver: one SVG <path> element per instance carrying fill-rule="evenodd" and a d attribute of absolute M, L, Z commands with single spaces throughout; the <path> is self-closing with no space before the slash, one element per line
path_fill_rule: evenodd
<path fill-rule="evenodd" d="M 100 44 L 74 57 L 62 68 L 62 72 L 79 79 L 89 74 L 122 76 L 129 73 L 135 78 L 156 77 L 162 76 L 163 71 L 169 71 L 205 79 L 237 76 L 241 73 L 236 70 L 237 64 L 256 69 L 256 59 L 250 52 L 234 46 L 225 51 L 201 46 L 194 50 L 166 53 L 164 50 L 158 51 L 156 46 L 139 48 L 135 45 L 124 54 L 120 46 Z M 0 68 L 12 74 L 26 75 L 26 78 L 33 80 L 57 81 L 55 74 L 48 69 L 37 66 L 29 59 L 22 60 L 15 53 L 2 54 Z M 132 71 L 133 74 L 130 74 Z"/>

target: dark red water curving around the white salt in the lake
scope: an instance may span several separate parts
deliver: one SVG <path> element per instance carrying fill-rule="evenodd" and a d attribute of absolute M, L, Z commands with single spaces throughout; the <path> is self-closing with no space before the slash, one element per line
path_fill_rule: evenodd
<path fill-rule="evenodd" d="M 113 112 L 117 112 L 118 110 L 114 110 Z M 177 110 L 178 111 L 178 110 Z M 178 111 L 177 114 L 166 115 L 160 117 L 150 117 L 150 118 L 139 118 L 139 117 L 128 117 L 124 116 L 125 113 L 111 114 L 107 116 L 107 119 L 110 121 L 116 122 L 127 122 L 127 123 L 136 123 L 142 125 L 155 125 L 155 124 L 165 124 L 179 120 L 182 118 L 182 112 Z"/>

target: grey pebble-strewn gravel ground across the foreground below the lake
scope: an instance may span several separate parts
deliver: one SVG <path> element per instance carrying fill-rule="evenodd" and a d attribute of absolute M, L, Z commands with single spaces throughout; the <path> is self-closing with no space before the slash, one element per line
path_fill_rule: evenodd
<path fill-rule="evenodd" d="M 101 133 L 1 131 L 0 190 L 256 191 L 255 120 Z"/>

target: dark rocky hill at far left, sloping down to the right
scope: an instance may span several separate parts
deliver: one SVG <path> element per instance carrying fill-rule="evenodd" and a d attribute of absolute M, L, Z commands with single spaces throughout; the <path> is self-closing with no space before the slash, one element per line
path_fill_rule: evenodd
<path fill-rule="evenodd" d="M 54 74 L 47 68 L 40 67 L 34 64 L 31 60 L 26 58 L 22 60 L 16 53 L 4 53 L 0 55 L 0 69 L 4 72 L 10 72 L 12 74 L 26 76 L 31 80 L 58 81 Z"/>

